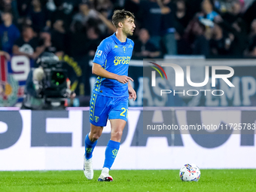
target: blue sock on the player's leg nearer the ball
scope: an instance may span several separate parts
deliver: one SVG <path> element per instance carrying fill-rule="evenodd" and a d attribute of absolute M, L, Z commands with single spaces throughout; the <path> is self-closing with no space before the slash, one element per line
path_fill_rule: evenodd
<path fill-rule="evenodd" d="M 108 169 L 111 168 L 111 166 L 114 163 L 115 157 L 117 157 L 117 152 L 120 147 L 120 142 L 114 142 L 112 140 L 109 140 L 107 148 L 105 149 L 105 161 L 104 161 L 104 167 L 107 167 Z"/>

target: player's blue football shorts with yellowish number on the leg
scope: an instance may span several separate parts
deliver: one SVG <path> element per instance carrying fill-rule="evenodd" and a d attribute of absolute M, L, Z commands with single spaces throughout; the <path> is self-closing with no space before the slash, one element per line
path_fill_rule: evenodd
<path fill-rule="evenodd" d="M 90 97 L 90 123 L 106 126 L 108 119 L 127 120 L 128 96 L 109 97 L 93 93 Z"/>

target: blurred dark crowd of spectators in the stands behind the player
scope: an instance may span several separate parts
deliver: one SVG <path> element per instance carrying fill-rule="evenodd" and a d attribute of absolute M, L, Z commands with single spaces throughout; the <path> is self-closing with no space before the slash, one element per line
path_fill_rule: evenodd
<path fill-rule="evenodd" d="M 254 0 L 1 0 L 0 53 L 92 58 L 116 9 L 136 16 L 133 59 L 256 56 Z"/>

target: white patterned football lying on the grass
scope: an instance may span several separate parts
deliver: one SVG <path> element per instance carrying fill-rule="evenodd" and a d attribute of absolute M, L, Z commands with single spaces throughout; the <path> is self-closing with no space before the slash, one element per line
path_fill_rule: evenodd
<path fill-rule="evenodd" d="M 195 164 L 187 163 L 181 167 L 179 177 L 182 181 L 198 181 L 200 179 L 200 169 Z"/>

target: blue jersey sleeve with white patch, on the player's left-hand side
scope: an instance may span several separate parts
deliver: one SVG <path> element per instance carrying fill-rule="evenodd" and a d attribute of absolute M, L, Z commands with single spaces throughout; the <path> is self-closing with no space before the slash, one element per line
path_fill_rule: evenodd
<path fill-rule="evenodd" d="M 110 52 L 111 45 L 108 41 L 103 40 L 97 47 L 93 62 L 103 66 L 107 59 L 108 53 Z"/>

